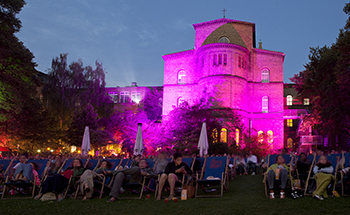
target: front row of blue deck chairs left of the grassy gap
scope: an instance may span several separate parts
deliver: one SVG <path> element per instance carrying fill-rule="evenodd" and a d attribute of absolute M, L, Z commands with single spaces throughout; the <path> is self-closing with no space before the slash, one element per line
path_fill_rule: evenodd
<path fill-rule="evenodd" d="M 62 165 L 61 168 L 59 169 L 59 172 L 62 170 L 65 170 L 69 168 L 72 165 L 74 159 L 66 159 Z M 84 168 L 85 169 L 90 169 L 90 170 L 95 170 L 97 167 L 100 165 L 101 160 L 86 160 L 82 159 Z M 110 159 L 108 160 L 112 167 L 112 170 L 117 170 L 119 168 L 128 168 L 130 165 L 131 159 Z M 169 159 L 171 161 L 171 159 Z M 28 162 L 35 162 L 38 165 L 38 174 L 40 180 L 43 182 L 47 177 L 48 177 L 48 169 L 46 168 L 46 164 L 48 162 L 51 163 L 51 160 L 29 160 Z M 149 164 L 150 168 L 156 168 L 157 166 L 157 161 L 153 159 L 147 159 L 147 162 Z M 228 173 L 228 162 L 229 159 L 227 157 L 208 157 L 208 158 L 183 158 L 183 162 L 186 163 L 188 166 L 190 166 L 191 170 L 193 170 L 195 162 L 198 163 L 199 166 L 199 171 L 197 171 L 196 176 L 186 176 L 183 179 L 181 179 L 179 182 L 181 184 L 181 189 L 183 189 L 186 185 L 188 185 L 189 180 L 195 181 L 196 182 L 196 192 L 195 195 L 196 197 L 202 197 L 201 195 L 197 195 L 197 190 L 199 187 L 203 188 L 205 190 L 204 185 L 221 185 L 221 194 L 219 195 L 222 197 L 224 189 L 228 189 L 226 186 L 227 181 L 227 173 Z M 9 180 L 10 172 L 11 169 L 16 165 L 18 161 L 15 160 L 0 160 L 0 166 L 3 167 L 3 169 L 6 169 L 4 172 L 4 175 L 6 177 L 5 183 L 3 183 L 3 193 L 2 193 L 2 199 L 5 199 L 5 194 L 7 193 L 7 189 L 14 189 L 14 190 L 21 190 L 19 188 L 31 188 L 31 197 L 33 198 L 35 194 L 35 190 L 38 188 L 35 185 L 35 182 L 11 182 Z M 67 195 L 69 190 L 75 190 L 75 197 L 78 194 L 79 191 L 79 186 L 80 184 L 72 184 L 71 182 L 73 178 L 71 177 L 69 180 L 69 185 L 67 189 L 65 190 L 64 196 Z M 195 179 L 195 180 L 193 180 Z M 110 177 L 105 177 L 102 176 L 102 180 L 95 180 L 94 183 L 96 185 L 96 188 L 100 188 L 97 190 L 99 192 L 99 198 L 102 198 L 103 193 L 106 193 L 107 190 L 112 189 L 113 185 L 113 176 Z M 36 178 L 34 179 L 36 181 Z M 78 181 L 78 180 L 75 180 Z M 155 192 L 155 196 L 157 195 L 158 191 L 158 180 L 155 180 L 156 183 L 156 189 L 152 189 L 150 187 L 152 179 L 145 177 L 144 180 L 140 183 L 136 184 L 126 184 L 125 187 L 126 189 L 130 188 L 130 190 L 134 190 L 135 188 L 140 188 L 140 195 L 136 198 L 142 198 L 143 191 L 144 189 L 150 190 Z M 39 190 L 40 191 L 40 190 Z M 132 197 L 134 198 L 134 197 Z"/>

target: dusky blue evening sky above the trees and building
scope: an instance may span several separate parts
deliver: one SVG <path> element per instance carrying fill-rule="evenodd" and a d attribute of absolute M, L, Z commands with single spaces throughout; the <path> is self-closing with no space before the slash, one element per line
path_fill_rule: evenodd
<path fill-rule="evenodd" d="M 52 58 L 98 60 L 107 86 L 163 84 L 162 55 L 194 47 L 192 24 L 222 18 L 255 23 L 263 48 L 282 51 L 284 81 L 303 70 L 309 47 L 331 45 L 348 0 L 27 0 L 17 34 L 47 72 Z"/>

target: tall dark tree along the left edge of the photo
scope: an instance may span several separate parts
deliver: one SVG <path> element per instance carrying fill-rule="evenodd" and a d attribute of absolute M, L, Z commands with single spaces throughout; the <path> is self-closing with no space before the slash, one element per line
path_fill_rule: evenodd
<path fill-rule="evenodd" d="M 40 81 L 33 54 L 15 36 L 21 28 L 16 15 L 23 0 L 0 2 L 0 134 L 20 150 L 42 146 L 50 136 L 51 118 L 42 108 Z"/>

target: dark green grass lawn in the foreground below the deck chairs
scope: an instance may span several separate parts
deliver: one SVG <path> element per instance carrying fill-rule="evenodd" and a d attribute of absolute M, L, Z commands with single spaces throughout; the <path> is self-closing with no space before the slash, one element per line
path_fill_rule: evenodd
<path fill-rule="evenodd" d="M 165 196 L 166 193 L 163 195 Z M 0 214 L 350 214 L 350 197 L 319 201 L 311 197 L 270 200 L 265 197 L 262 176 L 238 176 L 230 181 L 223 198 L 201 198 L 173 202 L 154 200 L 41 202 L 30 199 L 1 200 Z"/>

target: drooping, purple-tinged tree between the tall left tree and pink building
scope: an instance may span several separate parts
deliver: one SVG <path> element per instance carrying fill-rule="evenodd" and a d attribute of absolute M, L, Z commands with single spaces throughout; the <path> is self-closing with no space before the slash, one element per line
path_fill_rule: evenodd
<path fill-rule="evenodd" d="M 113 103 L 105 90 L 102 64 L 83 66 L 81 60 L 68 65 L 67 54 L 52 60 L 43 88 L 46 109 L 59 122 L 61 140 L 80 145 L 85 126 L 91 127 L 91 142 L 97 147 L 112 140 L 110 124 Z M 95 139 L 94 139 L 95 138 Z"/>

